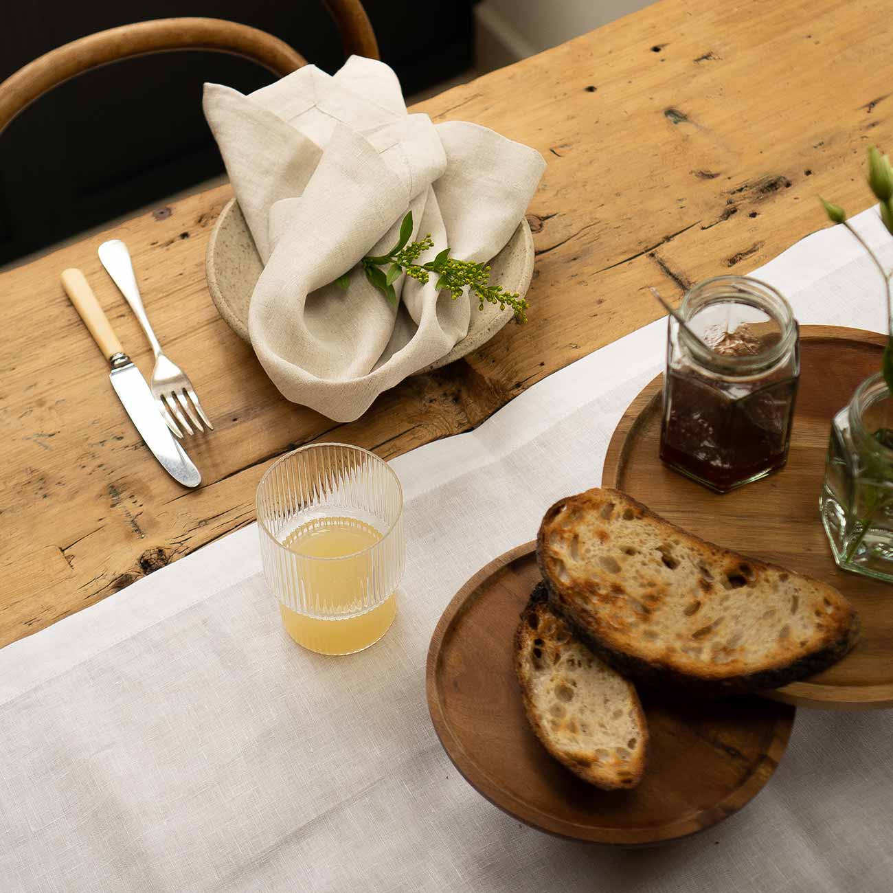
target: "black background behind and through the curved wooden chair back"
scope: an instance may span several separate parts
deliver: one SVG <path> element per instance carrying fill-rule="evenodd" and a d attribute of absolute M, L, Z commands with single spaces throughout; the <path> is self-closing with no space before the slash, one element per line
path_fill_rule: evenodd
<path fill-rule="evenodd" d="M 473 2 L 363 0 L 405 95 L 472 67 Z M 172 16 L 269 31 L 323 71 L 344 61 L 318 0 L 25 0 L 0 9 L 0 80 L 95 31 Z M 204 81 L 250 93 L 273 77 L 232 56 L 178 52 L 89 71 L 43 96 L 0 134 L 0 263 L 221 173 L 201 109 Z"/>

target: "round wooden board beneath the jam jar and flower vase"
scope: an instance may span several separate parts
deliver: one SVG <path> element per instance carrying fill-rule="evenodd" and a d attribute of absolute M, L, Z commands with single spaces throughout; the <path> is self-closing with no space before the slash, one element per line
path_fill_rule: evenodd
<path fill-rule="evenodd" d="M 763 480 L 720 495 L 661 463 L 663 376 L 630 404 L 605 456 L 603 486 L 624 490 L 698 537 L 825 580 L 855 605 L 862 638 L 853 651 L 809 680 L 766 693 L 789 704 L 833 710 L 893 706 L 893 587 L 841 571 L 819 517 L 831 418 L 857 385 L 880 371 L 886 340 L 857 329 L 801 327 L 788 464 Z"/>

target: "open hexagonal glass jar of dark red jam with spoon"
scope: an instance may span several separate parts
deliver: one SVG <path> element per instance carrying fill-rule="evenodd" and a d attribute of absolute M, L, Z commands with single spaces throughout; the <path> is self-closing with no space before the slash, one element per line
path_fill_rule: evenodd
<path fill-rule="evenodd" d="M 680 315 L 688 330 L 672 316 L 667 328 L 661 459 L 726 493 L 788 460 L 797 321 L 774 288 L 746 276 L 699 282 Z"/>

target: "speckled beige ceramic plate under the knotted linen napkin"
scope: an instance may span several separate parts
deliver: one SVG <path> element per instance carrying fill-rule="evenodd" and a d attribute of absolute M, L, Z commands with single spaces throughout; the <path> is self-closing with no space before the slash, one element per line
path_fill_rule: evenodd
<path fill-rule="evenodd" d="M 218 313 L 239 338 L 250 340 L 248 304 L 263 271 L 263 264 L 236 199 L 226 204 L 217 219 L 211 241 L 208 242 L 204 266 L 208 289 Z M 527 294 L 533 275 L 533 237 L 526 220 L 518 224 L 505 248 L 490 261 L 490 268 L 491 282 L 498 283 L 505 291 L 514 291 L 521 296 Z M 431 363 L 420 372 L 446 366 L 477 350 L 510 319 L 512 311 L 508 307 L 500 310 L 497 305 L 485 304 L 480 311 L 472 307 L 472 321 L 465 338 L 437 363 Z"/>

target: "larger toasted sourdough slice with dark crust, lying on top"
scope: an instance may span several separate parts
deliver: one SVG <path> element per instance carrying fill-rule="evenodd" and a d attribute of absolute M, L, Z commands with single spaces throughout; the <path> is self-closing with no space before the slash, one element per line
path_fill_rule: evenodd
<path fill-rule="evenodd" d="M 619 490 L 555 503 L 537 556 L 557 610 L 646 683 L 776 688 L 835 663 L 858 634 L 837 589 L 707 543 Z"/>

